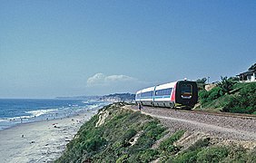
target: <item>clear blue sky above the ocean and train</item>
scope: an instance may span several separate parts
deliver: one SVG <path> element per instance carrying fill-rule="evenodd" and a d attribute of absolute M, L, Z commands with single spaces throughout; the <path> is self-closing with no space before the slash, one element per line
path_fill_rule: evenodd
<path fill-rule="evenodd" d="M 0 98 L 134 92 L 256 62 L 256 2 L 0 3 Z"/>

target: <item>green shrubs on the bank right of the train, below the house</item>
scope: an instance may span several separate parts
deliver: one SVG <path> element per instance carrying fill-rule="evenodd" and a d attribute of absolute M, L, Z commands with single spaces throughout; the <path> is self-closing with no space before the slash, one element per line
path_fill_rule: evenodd
<path fill-rule="evenodd" d="M 256 114 L 256 82 L 224 77 L 211 91 L 199 91 L 199 101 L 204 110 Z"/>

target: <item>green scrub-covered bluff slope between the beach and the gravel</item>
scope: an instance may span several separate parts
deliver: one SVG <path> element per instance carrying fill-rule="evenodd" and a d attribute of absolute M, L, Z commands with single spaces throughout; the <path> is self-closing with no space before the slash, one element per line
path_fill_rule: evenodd
<path fill-rule="evenodd" d="M 173 134 L 159 120 L 124 103 L 103 107 L 84 123 L 59 162 L 255 162 L 256 151 L 219 146 L 210 138 L 184 149 L 177 141 L 185 130 Z M 153 148 L 154 146 L 154 148 Z"/>

